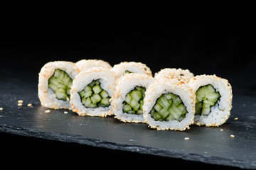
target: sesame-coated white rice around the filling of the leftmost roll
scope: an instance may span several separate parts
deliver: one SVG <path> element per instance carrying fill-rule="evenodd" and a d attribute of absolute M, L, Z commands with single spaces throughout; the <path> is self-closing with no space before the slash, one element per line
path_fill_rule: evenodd
<path fill-rule="evenodd" d="M 48 62 L 45 64 L 38 79 L 38 97 L 41 101 L 41 105 L 46 108 L 68 108 L 71 109 L 70 101 L 58 100 L 55 98 L 55 94 L 52 89 L 48 88 L 48 79 L 53 76 L 55 69 L 61 69 L 65 71 L 71 79 L 75 79 L 79 70 L 73 62 Z"/>

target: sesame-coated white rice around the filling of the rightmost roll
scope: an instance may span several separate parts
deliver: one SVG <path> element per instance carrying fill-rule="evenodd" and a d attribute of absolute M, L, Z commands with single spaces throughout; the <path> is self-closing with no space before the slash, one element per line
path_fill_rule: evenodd
<path fill-rule="evenodd" d="M 211 84 L 213 88 L 220 93 L 220 99 L 211 107 L 208 115 L 195 115 L 194 123 L 196 125 L 219 126 L 228 120 L 232 108 L 232 87 L 228 80 L 221 79 L 215 75 L 196 76 L 189 82 L 193 91 L 197 91 L 201 86 Z"/>

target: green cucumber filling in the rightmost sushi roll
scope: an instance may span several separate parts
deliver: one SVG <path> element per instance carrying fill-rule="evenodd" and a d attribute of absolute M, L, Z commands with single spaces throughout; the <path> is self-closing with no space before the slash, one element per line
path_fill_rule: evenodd
<path fill-rule="evenodd" d="M 212 106 L 215 106 L 220 93 L 212 85 L 201 86 L 196 91 L 196 113 L 195 115 L 208 115 Z"/>

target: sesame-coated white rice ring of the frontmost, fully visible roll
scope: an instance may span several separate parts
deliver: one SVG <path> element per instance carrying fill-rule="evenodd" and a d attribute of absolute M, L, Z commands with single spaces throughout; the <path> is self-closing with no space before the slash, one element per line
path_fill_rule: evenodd
<path fill-rule="evenodd" d="M 183 118 L 181 122 L 178 120 L 169 121 L 156 121 L 151 118 L 151 109 L 156 103 L 156 99 L 162 94 L 172 93 L 181 98 L 184 106 L 186 106 L 186 118 Z M 150 128 L 156 128 L 157 130 L 186 130 L 189 129 L 189 125 L 193 123 L 195 113 L 195 92 L 186 83 L 181 83 L 177 79 L 159 79 L 153 84 L 150 84 L 146 91 L 144 98 L 143 115 L 146 123 Z"/>

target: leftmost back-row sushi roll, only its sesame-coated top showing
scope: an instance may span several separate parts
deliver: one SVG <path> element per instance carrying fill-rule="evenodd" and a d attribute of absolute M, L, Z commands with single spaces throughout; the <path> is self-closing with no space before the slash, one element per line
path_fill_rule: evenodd
<path fill-rule="evenodd" d="M 112 69 L 110 63 L 103 60 L 80 60 L 75 63 L 75 65 L 80 69 L 80 72 L 85 71 L 85 69 L 90 69 L 92 67 L 104 67 L 107 69 Z"/>

